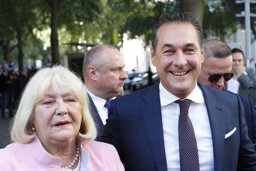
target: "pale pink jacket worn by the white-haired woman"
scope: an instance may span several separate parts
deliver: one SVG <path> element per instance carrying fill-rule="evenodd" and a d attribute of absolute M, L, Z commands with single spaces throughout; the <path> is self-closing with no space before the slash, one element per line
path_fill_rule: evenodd
<path fill-rule="evenodd" d="M 113 145 L 97 141 L 81 143 L 80 171 L 123 171 L 122 162 Z M 50 155 L 38 137 L 31 143 L 12 143 L 0 149 L 0 170 L 60 171 L 61 159 Z"/>

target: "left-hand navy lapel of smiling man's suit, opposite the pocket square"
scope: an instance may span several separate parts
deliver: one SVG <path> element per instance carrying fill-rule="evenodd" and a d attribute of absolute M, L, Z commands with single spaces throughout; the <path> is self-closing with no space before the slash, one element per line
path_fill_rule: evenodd
<path fill-rule="evenodd" d="M 139 110 L 152 152 L 159 171 L 167 170 L 166 153 L 164 150 L 163 124 L 159 97 L 159 84 L 147 89 L 142 97 Z"/>

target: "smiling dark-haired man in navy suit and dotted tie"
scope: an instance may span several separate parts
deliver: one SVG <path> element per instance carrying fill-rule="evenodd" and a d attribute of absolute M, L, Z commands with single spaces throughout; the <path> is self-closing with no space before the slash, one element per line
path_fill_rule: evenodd
<path fill-rule="evenodd" d="M 197 83 L 204 51 L 196 19 L 186 12 L 162 15 L 152 30 L 150 52 L 160 82 L 112 101 L 101 136 L 117 148 L 126 171 L 188 166 L 182 158 L 187 152 L 184 141 L 180 141 L 180 131 L 188 127 L 180 130 L 178 125 L 185 111 L 180 102 L 184 101 L 191 101 L 189 129 L 194 132 L 182 138 L 196 137 L 196 153 L 187 156 L 189 165 L 196 161 L 200 170 L 207 171 L 256 170 L 256 153 L 247 136 L 240 98 Z"/>

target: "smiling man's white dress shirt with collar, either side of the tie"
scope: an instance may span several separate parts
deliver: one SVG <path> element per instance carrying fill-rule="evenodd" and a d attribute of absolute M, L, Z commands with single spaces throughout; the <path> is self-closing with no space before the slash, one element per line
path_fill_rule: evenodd
<path fill-rule="evenodd" d="M 164 148 L 166 151 L 168 171 L 180 170 L 179 156 L 179 133 L 178 122 L 180 108 L 175 103 L 175 95 L 167 91 L 163 85 L 159 84 L 160 105 L 163 120 Z M 213 144 L 212 133 L 207 108 L 204 102 L 204 95 L 199 86 L 195 86 L 192 93 L 186 99 L 190 99 L 188 115 L 195 131 L 197 149 L 199 151 L 199 164 L 201 171 L 213 171 Z"/>

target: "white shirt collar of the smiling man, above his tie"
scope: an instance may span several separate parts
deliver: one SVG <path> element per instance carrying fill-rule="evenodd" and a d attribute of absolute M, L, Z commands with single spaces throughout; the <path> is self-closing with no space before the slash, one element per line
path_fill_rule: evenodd
<path fill-rule="evenodd" d="M 175 95 L 171 94 L 160 82 L 159 84 L 159 96 L 160 96 L 160 104 L 161 107 L 169 105 L 170 103 L 175 102 L 176 100 L 180 99 Z M 195 88 L 192 92 L 186 97 L 195 103 L 204 103 L 204 95 L 200 87 L 196 84 Z"/>

